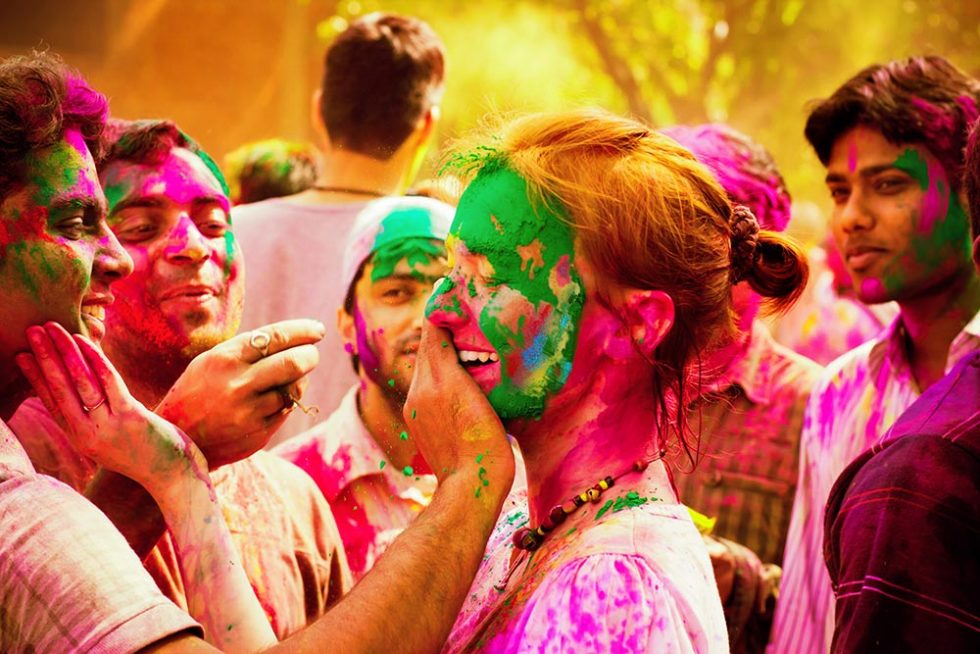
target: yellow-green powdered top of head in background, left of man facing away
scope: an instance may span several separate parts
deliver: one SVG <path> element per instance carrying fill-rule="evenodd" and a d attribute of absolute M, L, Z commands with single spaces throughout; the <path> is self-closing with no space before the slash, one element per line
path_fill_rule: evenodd
<path fill-rule="evenodd" d="M 305 191 L 316 183 L 319 162 L 309 143 L 268 139 L 229 153 L 225 170 L 232 201 L 249 204 Z"/>

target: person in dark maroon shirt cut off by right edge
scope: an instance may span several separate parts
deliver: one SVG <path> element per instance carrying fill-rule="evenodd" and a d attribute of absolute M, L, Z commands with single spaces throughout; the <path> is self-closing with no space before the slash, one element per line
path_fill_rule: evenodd
<path fill-rule="evenodd" d="M 980 122 L 964 173 L 980 274 Z M 980 350 L 837 479 L 825 517 L 834 652 L 980 651 Z"/>

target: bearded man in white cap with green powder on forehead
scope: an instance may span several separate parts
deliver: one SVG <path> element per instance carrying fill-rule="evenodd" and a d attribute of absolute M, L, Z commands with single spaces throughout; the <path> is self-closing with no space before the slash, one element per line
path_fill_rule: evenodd
<path fill-rule="evenodd" d="M 408 437 L 402 408 L 415 368 L 423 307 L 446 274 L 453 208 L 385 198 L 358 215 L 344 248 L 337 329 L 357 383 L 332 415 L 275 452 L 303 468 L 330 503 L 360 579 L 428 505 L 436 478 Z"/>

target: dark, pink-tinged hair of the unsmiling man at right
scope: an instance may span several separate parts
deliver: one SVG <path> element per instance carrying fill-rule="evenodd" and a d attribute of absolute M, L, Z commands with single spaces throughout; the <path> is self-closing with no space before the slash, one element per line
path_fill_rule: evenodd
<path fill-rule="evenodd" d="M 978 107 L 980 81 L 942 57 L 911 57 L 860 71 L 814 106 L 804 134 L 825 166 L 834 143 L 859 125 L 896 145 L 921 144 L 958 191 L 967 130 Z"/>

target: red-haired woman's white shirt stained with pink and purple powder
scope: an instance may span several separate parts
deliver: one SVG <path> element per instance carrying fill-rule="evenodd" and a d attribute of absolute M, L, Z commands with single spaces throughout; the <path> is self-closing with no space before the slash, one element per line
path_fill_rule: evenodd
<path fill-rule="evenodd" d="M 728 652 L 711 563 L 672 498 L 650 482 L 613 487 L 511 569 L 528 522 L 526 491 L 512 493 L 443 653 Z"/>

